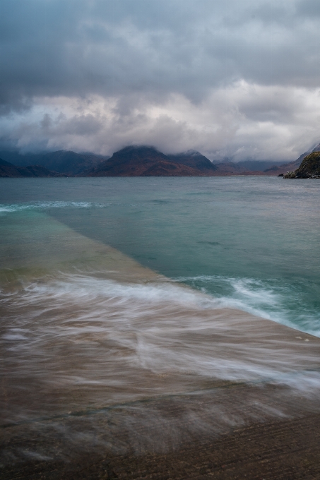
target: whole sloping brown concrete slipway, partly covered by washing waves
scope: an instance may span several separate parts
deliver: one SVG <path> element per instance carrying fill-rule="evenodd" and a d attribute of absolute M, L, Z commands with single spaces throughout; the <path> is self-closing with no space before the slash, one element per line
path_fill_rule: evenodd
<path fill-rule="evenodd" d="M 41 229 L 49 232 L 43 219 Z M 318 338 L 218 308 L 113 248 L 57 230 L 39 240 L 51 242 L 51 258 L 34 266 L 30 243 L 32 268 L 11 252 L 15 270 L 2 272 L 8 328 L 20 308 L 25 331 L 35 330 L 28 352 L 19 357 L 9 339 L 4 354 L 1 479 L 320 478 Z M 75 269 L 78 283 L 66 282 Z M 12 292 L 30 278 L 36 289 L 17 307 Z M 114 336 L 122 317 L 130 328 Z"/>

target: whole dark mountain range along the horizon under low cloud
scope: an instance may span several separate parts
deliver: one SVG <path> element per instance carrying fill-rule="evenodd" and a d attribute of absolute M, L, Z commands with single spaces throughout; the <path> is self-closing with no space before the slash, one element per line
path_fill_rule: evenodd
<path fill-rule="evenodd" d="M 320 143 L 312 150 L 318 151 Z M 295 162 L 273 164 L 256 160 L 213 163 L 194 150 L 165 155 L 146 145 L 127 146 L 112 157 L 66 150 L 26 155 L 4 150 L 0 152 L 0 176 L 283 176 L 297 169 L 309 153 Z"/>

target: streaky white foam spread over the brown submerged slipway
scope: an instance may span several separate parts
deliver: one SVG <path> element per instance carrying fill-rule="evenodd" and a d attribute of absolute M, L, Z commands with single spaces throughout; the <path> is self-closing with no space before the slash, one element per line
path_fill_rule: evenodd
<path fill-rule="evenodd" d="M 58 383 L 125 386 L 142 369 L 299 387 L 297 366 L 316 364 L 308 350 L 297 355 L 290 342 L 265 341 L 259 328 L 248 330 L 246 316 L 221 310 L 239 306 L 237 301 L 213 299 L 170 282 L 121 284 L 61 275 L 30 284 L 16 298 L 11 294 L 10 302 L 6 345 L 17 364 L 21 361 L 17 368 L 30 372 L 35 359 L 42 359 L 48 366 L 37 376 L 44 381 L 54 377 Z M 56 355 L 60 349 L 78 358 L 69 371 L 66 359 Z M 320 373 L 309 373 L 306 382 L 320 388 Z"/>

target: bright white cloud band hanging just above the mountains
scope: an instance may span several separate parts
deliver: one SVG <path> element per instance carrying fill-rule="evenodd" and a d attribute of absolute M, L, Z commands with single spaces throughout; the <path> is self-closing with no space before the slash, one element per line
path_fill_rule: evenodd
<path fill-rule="evenodd" d="M 1 129 L 22 150 L 111 155 L 136 143 L 164 152 L 195 148 L 211 159 L 294 160 L 319 139 L 319 93 L 242 81 L 196 104 L 180 94 L 162 102 L 134 95 L 129 109 L 122 109 L 122 97 L 38 97 L 23 119 L 3 119 Z"/>

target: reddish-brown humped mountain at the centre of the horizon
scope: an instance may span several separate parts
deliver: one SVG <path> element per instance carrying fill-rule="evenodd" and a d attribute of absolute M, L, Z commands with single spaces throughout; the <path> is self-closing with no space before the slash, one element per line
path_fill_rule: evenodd
<path fill-rule="evenodd" d="M 198 152 L 165 155 L 148 146 L 129 146 L 115 152 L 79 176 L 208 176 L 215 166 Z"/>

